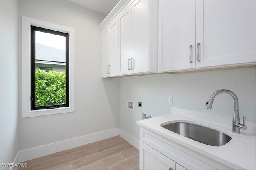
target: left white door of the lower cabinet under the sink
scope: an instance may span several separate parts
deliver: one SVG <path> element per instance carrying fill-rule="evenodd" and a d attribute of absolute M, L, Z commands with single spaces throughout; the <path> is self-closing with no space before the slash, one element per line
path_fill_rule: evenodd
<path fill-rule="evenodd" d="M 140 141 L 140 170 L 175 170 L 175 162 Z"/>

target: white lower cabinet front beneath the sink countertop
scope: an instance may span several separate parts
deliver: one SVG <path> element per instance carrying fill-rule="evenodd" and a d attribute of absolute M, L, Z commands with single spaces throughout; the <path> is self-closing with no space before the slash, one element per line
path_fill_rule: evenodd
<path fill-rule="evenodd" d="M 140 126 L 140 170 L 232 169 Z"/>

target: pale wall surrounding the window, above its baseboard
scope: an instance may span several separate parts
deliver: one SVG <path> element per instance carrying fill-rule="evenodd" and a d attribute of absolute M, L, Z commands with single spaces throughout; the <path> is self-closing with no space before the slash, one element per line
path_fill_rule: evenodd
<path fill-rule="evenodd" d="M 105 16 L 56 0 L 19 1 L 20 22 L 21 16 L 75 29 L 75 112 L 23 119 L 20 115 L 20 150 L 118 127 L 119 82 L 101 78 L 98 25 Z"/>

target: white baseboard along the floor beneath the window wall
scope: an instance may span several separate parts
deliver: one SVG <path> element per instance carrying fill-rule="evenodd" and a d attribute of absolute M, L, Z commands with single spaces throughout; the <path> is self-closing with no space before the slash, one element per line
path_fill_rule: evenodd
<path fill-rule="evenodd" d="M 64 140 L 64 141 L 60 141 L 60 142 L 56 142 L 56 143 L 50 143 L 50 144 L 39 146 L 39 147 L 34 147 L 34 148 L 26 149 L 26 150 L 20 150 L 19 162 L 24 162 L 26 160 L 38 158 L 38 157 L 52 154 L 55 152 L 60 152 L 62 150 L 78 147 L 78 146 L 96 142 L 96 141 L 100 141 L 102 139 L 114 137 L 116 135 L 119 135 L 118 129 L 110 129 L 107 131 L 84 135 L 81 137 L 76 137 L 76 138 L 72 138 L 72 139 L 68 139 L 68 140 Z"/>

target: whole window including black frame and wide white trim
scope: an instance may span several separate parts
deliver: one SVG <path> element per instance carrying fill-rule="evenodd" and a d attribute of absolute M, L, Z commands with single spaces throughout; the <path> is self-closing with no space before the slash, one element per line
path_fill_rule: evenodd
<path fill-rule="evenodd" d="M 73 28 L 22 16 L 23 118 L 74 112 L 74 57 Z"/>

